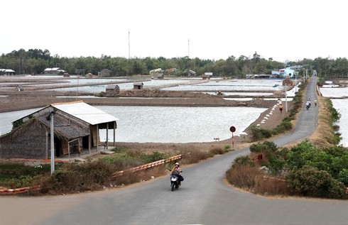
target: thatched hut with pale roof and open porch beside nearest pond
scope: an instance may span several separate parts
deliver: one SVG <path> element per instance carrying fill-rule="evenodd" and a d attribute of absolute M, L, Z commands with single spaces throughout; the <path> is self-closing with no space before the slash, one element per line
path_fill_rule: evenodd
<path fill-rule="evenodd" d="M 50 123 L 53 114 L 53 133 Z M 54 136 L 55 157 L 76 150 L 101 146 L 99 129 L 114 129 L 118 119 L 83 101 L 50 104 L 43 109 L 13 121 L 10 133 L 0 136 L 1 158 L 50 158 L 50 136 Z"/>

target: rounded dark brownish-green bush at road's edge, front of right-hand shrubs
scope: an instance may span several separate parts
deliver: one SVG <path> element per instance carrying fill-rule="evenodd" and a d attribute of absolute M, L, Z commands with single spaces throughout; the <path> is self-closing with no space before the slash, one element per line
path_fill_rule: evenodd
<path fill-rule="evenodd" d="M 329 172 L 309 165 L 291 170 L 286 175 L 286 183 L 296 194 L 310 197 L 347 198 L 342 182 L 335 180 Z"/>

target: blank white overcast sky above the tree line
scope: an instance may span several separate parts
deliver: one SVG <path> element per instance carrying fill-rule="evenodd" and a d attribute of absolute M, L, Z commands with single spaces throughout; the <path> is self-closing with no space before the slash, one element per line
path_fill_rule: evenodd
<path fill-rule="evenodd" d="M 347 0 L 0 0 L 0 9 L 0 54 L 348 58 Z"/>

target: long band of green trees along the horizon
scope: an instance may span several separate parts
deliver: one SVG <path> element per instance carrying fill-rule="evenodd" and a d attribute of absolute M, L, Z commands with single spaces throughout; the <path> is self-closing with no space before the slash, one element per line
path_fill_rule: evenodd
<path fill-rule="evenodd" d="M 167 70 L 176 68 L 175 72 L 167 75 L 182 76 L 187 70 L 193 70 L 197 75 L 213 72 L 215 77 L 245 77 L 245 75 L 271 75 L 272 70 L 300 65 L 304 69 L 317 70 L 320 77 L 348 77 L 347 58 L 331 59 L 317 57 L 314 60 L 303 59 L 298 61 L 277 62 L 273 58 L 262 58 L 258 53 L 250 57 L 229 56 L 227 59 L 205 60 L 198 57 L 60 57 L 51 55 L 49 50 L 24 49 L 13 50 L 11 53 L 0 56 L 0 68 L 16 71 L 17 75 L 40 75 L 46 68 L 60 67 L 70 74 L 77 74 L 84 70 L 85 74 L 97 75 L 103 69 L 112 71 L 112 76 L 149 75 L 150 70 L 161 68 Z M 299 71 L 301 75 L 304 70 Z"/>

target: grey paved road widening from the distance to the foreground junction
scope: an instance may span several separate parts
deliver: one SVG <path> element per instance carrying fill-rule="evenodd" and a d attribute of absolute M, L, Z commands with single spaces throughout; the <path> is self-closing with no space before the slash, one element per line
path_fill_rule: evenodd
<path fill-rule="evenodd" d="M 315 99 L 312 79 L 306 98 Z M 308 136 L 317 109 L 301 111 L 282 146 Z M 185 181 L 170 191 L 169 177 L 105 192 L 58 197 L 1 197 L 0 224 L 348 224 L 348 201 L 266 198 L 224 184 L 224 172 L 248 148 L 183 168 Z"/>

